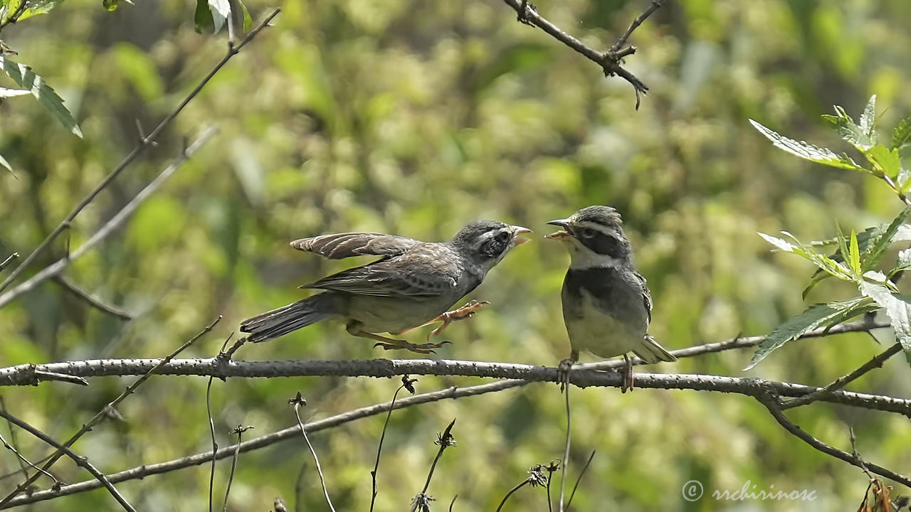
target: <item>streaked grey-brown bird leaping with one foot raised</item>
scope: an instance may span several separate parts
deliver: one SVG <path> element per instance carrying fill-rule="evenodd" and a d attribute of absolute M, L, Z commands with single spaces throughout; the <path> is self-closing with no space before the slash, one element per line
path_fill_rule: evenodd
<path fill-rule="evenodd" d="M 471 301 L 446 310 L 475 290 L 510 250 L 529 241 L 519 235 L 530 232 L 496 220 L 476 220 L 441 242 L 383 233 L 333 233 L 292 241 L 292 248 L 330 260 L 380 258 L 302 285 L 324 292 L 245 320 L 241 332 L 249 333 L 247 341 L 260 343 L 339 318 L 348 333 L 378 342 L 374 347 L 432 353 L 443 346 L 431 343 L 432 337 L 450 323 L 473 316 L 487 302 Z M 432 323 L 441 324 L 427 335 L 427 343 L 377 334 L 400 335 Z"/>

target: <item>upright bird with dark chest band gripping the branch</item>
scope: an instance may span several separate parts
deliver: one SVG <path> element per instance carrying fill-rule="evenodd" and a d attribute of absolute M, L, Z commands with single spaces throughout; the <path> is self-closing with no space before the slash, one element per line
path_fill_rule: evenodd
<path fill-rule="evenodd" d="M 548 224 L 562 230 L 546 238 L 563 242 L 569 251 L 560 297 L 571 350 L 559 364 L 561 385 L 568 384 L 568 371 L 580 350 L 604 358 L 623 355 L 624 393 L 633 385 L 630 352 L 649 364 L 676 361 L 648 333 L 651 294 L 633 264 L 619 212 L 589 206 Z"/>

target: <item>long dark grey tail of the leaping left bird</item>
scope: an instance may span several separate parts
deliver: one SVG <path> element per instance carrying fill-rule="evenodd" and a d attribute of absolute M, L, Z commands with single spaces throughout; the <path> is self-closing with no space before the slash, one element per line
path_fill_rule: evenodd
<path fill-rule="evenodd" d="M 338 297 L 333 293 L 323 292 L 244 320 L 241 323 L 241 333 L 250 333 L 247 336 L 248 341 L 261 343 L 320 322 L 340 312 Z"/>

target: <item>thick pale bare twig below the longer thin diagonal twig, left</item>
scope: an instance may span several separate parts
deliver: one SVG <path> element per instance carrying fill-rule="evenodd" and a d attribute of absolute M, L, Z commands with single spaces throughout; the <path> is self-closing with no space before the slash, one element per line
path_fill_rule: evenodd
<path fill-rule="evenodd" d="M 139 205 L 141 205 L 145 200 L 148 199 L 149 196 L 155 193 L 161 187 L 161 185 L 163 185 L 164 182 L 167 181 L 170 176 L 174 174 L 175 171 L 177 171 L 177 169 L 179 169 L 181 164 L 187 161 L 187 159 L 189 159 L 189 157 L 194 152 L 196 152 L 196 150 L 201 148 L 203 144 L 205 144 L 213 135 L 215 135 L 215 132 L 215 128 L 206 128 L 206 130 L 202 132 L 202 135 L 200 135 L 200 137 L 197 138 L 193 144 L 187 148 L 186 151 L 182 152 L 179 157 L 174 159 L 167 168 L 161 171 L 158 178 L 152 180 L 152 182 L 149 183 L 145 189 L 139 190 L 139 193 L 136 195 L 136 197 L 130 200 L 126 206 L 124 206 L 120 211 L 117 212 L 116 215 L 114 215 L 114 217 L 111 217 L 110 220 L 107 220 L 107 222 L 101 226 L 101 228 L 95 231 L 95 234 L 93 234 L 91 238 L 86 241 L 86 243 L 80 245 L 76 251 L 73 251 L 71 254 L 68 253 L 66 257 L 61 258 L 60 260 L 57 260 L 46 266 L 41 271 L 36 272 L 36 274 L 29 278 L 26 282 L 23 282 L 9 292 L 5 292 L 3 295 L 0 295 L 0 308 L 9 302 L 14 301 L 15 298 L 19 295 L 32 290 L 38 284 L 45 282 L 46 280 L 57 275 L 60 275 L 60 273 L 64 271 L 64 269 L 66 269 L 70 263 L 79 259 L 87 251 L 90 251 L 98 243 L 106 239 L 108 235 L 114 232 L 114 230 L 117 230 L 118 227 L 120 227 L 126 220 L 128 220 L 130 215 L 132 215 L 133 212 L 138 209 Z M 36 252 L 40 249 L 40 247 L 36 249 Z M 33 254 L 36 252 L 33 252 Z M 26 261 L 28 261 L 27 258 Z M 25 268 L 26 261 L 23 261 L 22 264 L 16 267 L 15 270 L 19 271 Z M 13 277 L 13 275 L 10 275 L 10 279 L 7 279 L 7 281 L 10 281 Z M 4 288 L 0 287 L 0 290 L 3 289 Z"/>

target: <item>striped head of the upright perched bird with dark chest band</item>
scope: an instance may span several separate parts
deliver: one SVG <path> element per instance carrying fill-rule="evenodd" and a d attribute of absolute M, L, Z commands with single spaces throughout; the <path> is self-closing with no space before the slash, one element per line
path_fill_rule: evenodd
<path fill-rule="evenodd" d="M 548 224 L 564 229 L 548 238 L 567 243 L 573 267 L 616 267 L 632 261 L 623 220 L 609 206 L 589 206 L 567 219 L 551 220 Z"/>

